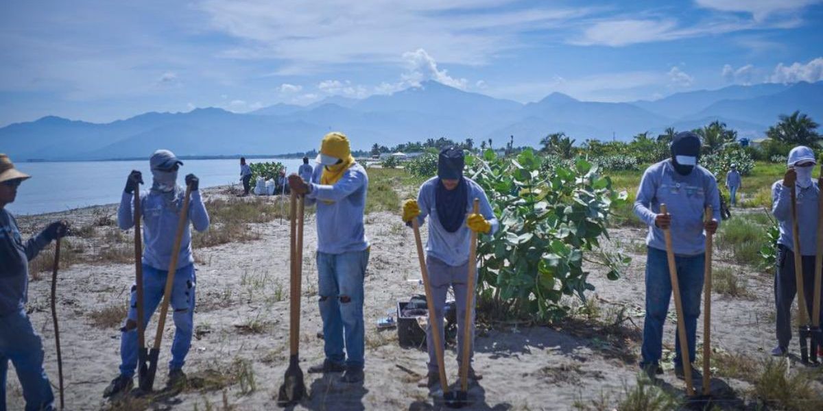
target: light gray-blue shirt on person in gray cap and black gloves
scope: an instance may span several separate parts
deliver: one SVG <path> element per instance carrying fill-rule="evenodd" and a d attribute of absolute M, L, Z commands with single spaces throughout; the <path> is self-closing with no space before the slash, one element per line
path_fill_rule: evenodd
<path fill-rule="evenodd" d="M 179 208 L 183 206 L 183 197 L 185 195 L 185 190 L 180 189 L 178 196 Z M 134 227 L 133 204 L 134 195 L 123 192 L 120 207 L 117 210 L 117 224 L 120 229 L 127 230 Z M 140 204 L 142 205 L 143 264 L 157 270 L 169 270 L 180 210 L 171 210 L 166 207 L 163 197 L 151 191 L 141 192 Z M 188 202 L 187 219 L 191 221 L 194 229 L 200 232 L 208 229 L 209 217 L 199 191 L 192 192 L 191 200 Z M 188 224 L 186 224 L 183 231 L 183 241 L 180 242 L 180 252 L 175 270 L 188 266 L 193 262 L 192 236 Z"/>

